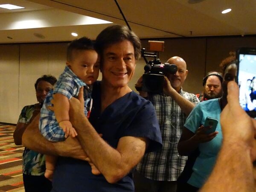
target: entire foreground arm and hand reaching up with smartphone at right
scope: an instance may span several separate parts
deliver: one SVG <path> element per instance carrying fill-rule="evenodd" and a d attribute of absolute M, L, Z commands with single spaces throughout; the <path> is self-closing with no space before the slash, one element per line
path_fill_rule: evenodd
<path fill-rule="evenodd" d="M 227 100 L 221 113 L 222 148 L 201 192 L 255 192 L 252 162 L 256 160 L 256 121 L 240 107 L 239 88 L 234 81 L 228 83 Z"/>

